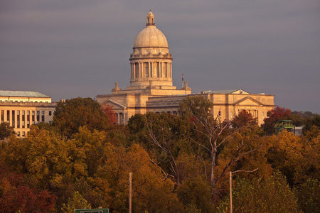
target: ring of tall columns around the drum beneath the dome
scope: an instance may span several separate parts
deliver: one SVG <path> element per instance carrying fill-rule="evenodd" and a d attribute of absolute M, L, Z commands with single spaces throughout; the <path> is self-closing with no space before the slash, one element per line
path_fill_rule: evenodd
<path fill-rule="evenodd" d="M 172 62 L 134 62 L 130 67 L 131 78 L 172 77 Z"/>

